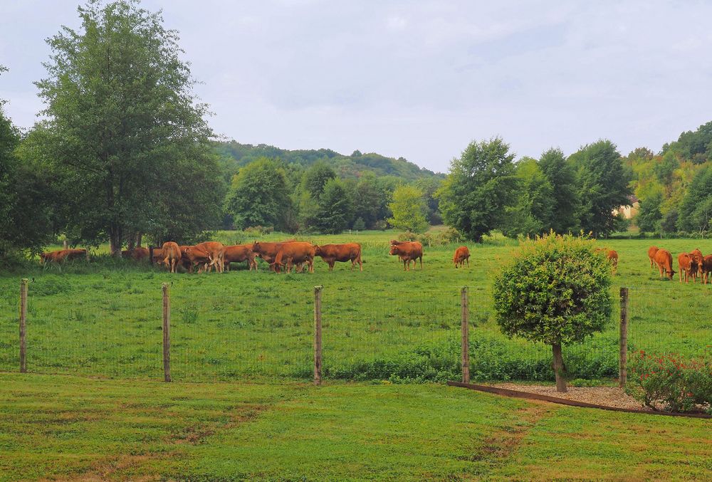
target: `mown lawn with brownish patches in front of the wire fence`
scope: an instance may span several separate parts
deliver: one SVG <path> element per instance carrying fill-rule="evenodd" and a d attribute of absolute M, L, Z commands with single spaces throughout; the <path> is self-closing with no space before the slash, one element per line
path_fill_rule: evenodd
<path fill-rule="evenodd" d="M 0 480 L 703 480 L 712 421 L 437 384 L 0 374 Z"/>

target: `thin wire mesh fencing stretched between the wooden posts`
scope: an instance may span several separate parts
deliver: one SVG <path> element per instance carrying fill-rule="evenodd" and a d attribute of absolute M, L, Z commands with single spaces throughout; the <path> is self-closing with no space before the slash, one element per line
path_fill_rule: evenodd
<path fill-rule="evenodd" d="M 285 278 L 287 279 L 287 278 Z M 712 342 L 712 295 L 666 288 L 629 290 L 629 351 L 701 355 Z M 98 283 L 87 298 L 52 283 L 31 284 L 27 367 L 31 372 L 163 377 L 162 293 L 131 283 Z M 62 288 L 65 289 L 65 288 Z M 176 281 L 170 292 L 172 379 L 311 379 L 314 293 L 303 285 L 217 293 Z M 50 294 L 50 295 L 48 295 Z M 148 295 L 147 295 L 148 294 Z M 468 293 L 473 381 L 551 380 L 551 347 L 510 339 L 496 323 L 486 288 Z M 600 333 L 564 345 L 570 379 L 617 377 L 619 310 Z M 444 381 L 461 377 L 461 290 L 353 290 L 322 295 L 323 377 Z M 0 297 L 0 370 L 19 368 L 19 283 Z"/>

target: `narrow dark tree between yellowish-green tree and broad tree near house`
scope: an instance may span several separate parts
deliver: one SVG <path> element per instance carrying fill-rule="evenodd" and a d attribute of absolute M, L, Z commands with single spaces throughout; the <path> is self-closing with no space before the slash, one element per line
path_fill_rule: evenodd
<path fill-rule="evenodd" d="M 555 148 L 541 154 L 539 168 L 552 188 L 552 217 L 549 226 L 544 226 L 545 231 L 553 229 L 559 234 L 577 231 L 579 223 L 576 212 L 579 195 L 575 170 L 566 161 L 562 150 Z"/>

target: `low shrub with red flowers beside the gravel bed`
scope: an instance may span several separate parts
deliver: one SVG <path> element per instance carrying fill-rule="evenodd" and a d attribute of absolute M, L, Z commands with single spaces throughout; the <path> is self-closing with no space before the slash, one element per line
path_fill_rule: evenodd
<path fill-rule="evenodd" d="M 654 410 L 711 409 L 712 361 L 640 350 L 629 360 L 626 392 Z"/>

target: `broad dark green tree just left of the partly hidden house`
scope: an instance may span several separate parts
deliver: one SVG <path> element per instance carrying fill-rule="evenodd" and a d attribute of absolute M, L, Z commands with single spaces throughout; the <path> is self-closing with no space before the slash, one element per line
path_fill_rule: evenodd
<path fill-rule="evenodd" d="M 614 231 L 613 210 L 629 204 L 632 194 L 616 146 L 609 140 L 594 142 L 571 154 L 569 162 L 577 174 L 581 228 L 595 236 Z"/>

